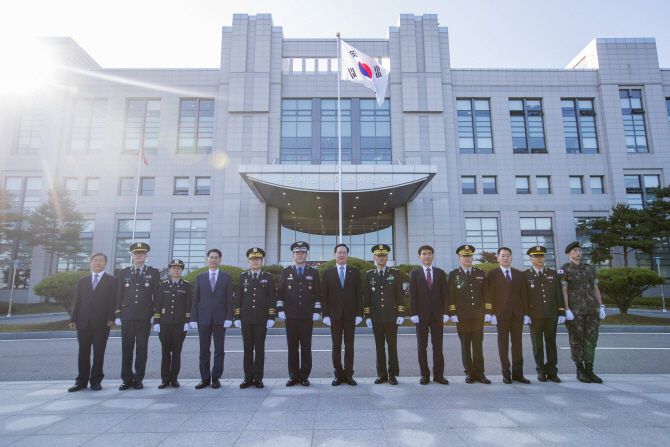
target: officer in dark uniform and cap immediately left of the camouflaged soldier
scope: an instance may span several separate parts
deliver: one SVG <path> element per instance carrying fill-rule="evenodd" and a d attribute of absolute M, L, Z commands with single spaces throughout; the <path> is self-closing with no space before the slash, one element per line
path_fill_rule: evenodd
<path fill-rule="evenodd" d="M 556 328 L 565 322 L 563 293 L 558 273 L 544 266 L 546 247 L 541 245 L 528 249 L 533 266 L 523 272 L 526 277 L 526 296 L 530 312 L 530 340 L 533 343 L 533 357 L 537 380 L 560 383 L 558 378 L 558 354 L 556 349 Z M 547 348 L 547 363 L 544 362 L 544 346 Z"/>

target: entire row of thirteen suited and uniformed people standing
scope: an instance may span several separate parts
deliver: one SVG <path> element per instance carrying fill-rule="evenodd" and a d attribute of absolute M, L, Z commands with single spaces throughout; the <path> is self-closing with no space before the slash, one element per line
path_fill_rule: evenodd
<path fill-rule="evenodd" d="M 378 377 L 374 383 L 398 384 L 397 334 L 398 326 L 405 321 L 405 293 L 400 271 L 386 265 L 391 250 L 388 245 L 372 247 L 375 268 L 366 272 L 361 282 L 360 271 L 347 265 L 349 248 L 345 244 L 335 247 L 336 264 L 320 278 L 319 271 L 306 263 L 309 244 L 295 242 L 291 246 L 294 264 L 282 270 L 276 287 L 273 275 L 262 270 L 265 252 L 254 247 L 246 253 L 249 270 L 239 276 L 235 294 L 232 276 L 219 269 L 219 250 L 207 252 L 209 268 L 197 275 L 193 290 L 182 278 L 184 263 L 179 259 L 169 264 L 170 279 L 161 281 L 159 271 L 145 264 L 149 250 L 146 243 L 132 244 L 132 265 L 122 269 L 118 278 L 104 273 L 106 255 L 95 253 L 90 257 L 91 275 L 81 278 L 75 291 L 70 327 L 77 330 L 79 340 L 79 375 L 69 391 L 87 388 L 89 382 L 91 389 L 101 389 L 105 348 L 113 324 L 121 326 L 120 390 L 143 388 L 152 324 L 162 344 L 158 388 L 180 386 L 181 351 L 189 328 L 198 330 L 200 341 L 201 380 L 195 388 L 219 388 L 225 333 L 233 324 L 241 329 L 244 344 L 244 381 L 240 388 L 263 388 L 265 339 L 276 318 L 286 322 L 286 386 L 310 385 L 312 330 L 314 322 L 321 318 L 331 328 L 333 386 L 356 385 L 354 335 L 363 319 L 372 329 L 376 345 Z M 530 383 L 523 376 L 523 325 L 530 326 L 538 380 L 560 382 L 556 328 L 563 322 L 570 334 L 577 378 L 582 382 L 602 382 L 593 373 L 593 359 L 599 318 L 605 318 L 605 311 L 595 270 L 581 263 L 579 244 L 568 245 L 570 262 L 558 271 L 544 266 L 546 249 L 541 246 L 528 250 L 533 267 L 525 272 L 511 268 L 509 248 L 498 250 L 500 267 L 488 274 L 472 266 L 474 252 L 470 245 L 459 247 L 460 267 L 446 275 L 432 265 L 432 247 L 424 245 L 418 250 L 421 267 L 409 275 L 409 310 L 416 326 L 420 383 L 430 382 L 429 334 L 433 381 L 449 383 L 444 377 L 442 353 L 443 328 L 448 321 L 457 324 L 466 383 L 491 383 L 484 375 L 482 344 L 486 322 L 498 329 L 504 383 Z"/>

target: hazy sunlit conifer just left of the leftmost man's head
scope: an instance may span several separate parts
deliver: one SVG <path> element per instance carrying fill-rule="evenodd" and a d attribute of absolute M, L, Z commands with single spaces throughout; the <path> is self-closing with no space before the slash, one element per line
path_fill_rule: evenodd
<path fill-rule="evenodd" d="M 49 198 L 23 216 L 19 237 L 32 247 L 42 247 L 49 254 L 50 275 L 54 257 L 75 256 L 81 251 L 79 233 L 83 226 L 83 216 L 77 211 L 74 200 L 64 184 L 55 184 L 48 192 Z"/>

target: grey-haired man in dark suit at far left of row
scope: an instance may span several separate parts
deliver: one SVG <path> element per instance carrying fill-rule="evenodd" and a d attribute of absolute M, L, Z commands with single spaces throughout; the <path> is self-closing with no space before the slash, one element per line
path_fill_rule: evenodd
<path fill-rule="evenodd" d="M 77 330 L 79 341 L 79 375 L 68 391 L 79 391 L 91 382 L 91 389 L 100 391 L 100 382 L 105 375 L 105 348 L 109 338 L 109 328 L 114 324 L 117 280 L 105 274 L 107 256 L 95 253 L 89 258 L 91 274 L 77 281 L 70 329 Z M 93 368 L 91 368 L 91 346 L 93 346 Z"/>

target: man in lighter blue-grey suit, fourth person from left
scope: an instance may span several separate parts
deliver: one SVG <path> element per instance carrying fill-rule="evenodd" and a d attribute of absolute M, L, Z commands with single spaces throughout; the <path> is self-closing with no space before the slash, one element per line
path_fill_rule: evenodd
<path fill-rule="evenodd" d="M 221 387 L 226 328 L 233 324 L 233 277 L 219 270 L 221 252 L 216 248 L 207 252 L 209 270 L 195 277 L 191 327 L 198 329 L 200 337 L 200 390 L 212 385 Z M 214 367 L 210 371 L 212 353 L 210 346 L 214 338 Z"/>

